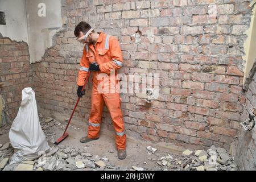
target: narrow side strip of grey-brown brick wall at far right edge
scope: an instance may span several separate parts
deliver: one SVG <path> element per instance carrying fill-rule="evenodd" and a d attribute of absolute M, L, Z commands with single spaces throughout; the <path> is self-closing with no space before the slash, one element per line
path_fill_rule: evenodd
<path fill-rule="evenodd" d="M 246 79 L 246 101 L 245 109 L 241 115 L 241 121 L 245 121 L 251 113 L 251 108 L 256 108 L 256 60 Z M 256 170 L 256 126 L 253 130 L 245 131 L 239 126 L 236 151 L 234 152 L 236 162 L 241 170 Z"/>

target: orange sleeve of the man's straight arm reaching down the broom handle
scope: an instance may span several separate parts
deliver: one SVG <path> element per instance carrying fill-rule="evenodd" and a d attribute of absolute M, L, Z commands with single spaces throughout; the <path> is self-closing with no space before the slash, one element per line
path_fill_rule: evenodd
<path fill-rule="evenodd" d="M 80 60 L 79 72 L 77 75 L 77 85 L 84 86 L 85 78 L 88 76 L 88 71 L 89 71 L 89 60 L 86 57 L 86 51 L 84 47 L 82 58 Z"/>

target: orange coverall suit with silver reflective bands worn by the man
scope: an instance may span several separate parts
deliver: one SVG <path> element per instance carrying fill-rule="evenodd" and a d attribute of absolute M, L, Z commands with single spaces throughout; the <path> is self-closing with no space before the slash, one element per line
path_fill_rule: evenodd
<path fill-rule="evenodd" d="M 104 34 L 104 32 L 100 32 L 100 36 L 98 37 L 95 49 L 92 44 L 89 46 L 85 45 L 80 61 L 77 85 L 84 85 L 85 78 L 88 76 L 89 64 L 93 62 L 96 62 L 100 65 L 101 71 L 92 72 L 92 110 L 90 111 L 88 138 L 99 137 L 102 110 L 105 103 L 113 121 L 115 129 L 115 143 L 117 149 L 125 150 L 126 134 L 121 111 L 121 98 L 119 93 L 102 93 L 98 92 L 97 90 L 98 85 L 101 82 L 101 80 L 98 79 L 98 75 L 100 73 L 106 73 L 109 76 L 110 71 L 114 70 L 114 75 L 116 76 L 117 69 L 121 68 L 123 65 L 123 57 L 118 40 L 113 36 Z M 108 78 L 107 82 L 110 82 L 110 80 L 111 79 Z"/>

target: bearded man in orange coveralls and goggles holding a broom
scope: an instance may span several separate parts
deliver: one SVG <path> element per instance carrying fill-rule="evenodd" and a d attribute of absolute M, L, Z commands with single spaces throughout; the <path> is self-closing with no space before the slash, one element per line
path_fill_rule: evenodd
<path fill-rule="evenodd" d="M 123 65 L 119 42 L 116 38 L 104 32 L 95 32 L 86 22 L 80 22 L 76 26 L 74 34 L 79 42 L 85 44 L 77 77 L 77 96 L 82 97 L 85 94 L 82 86 L 85 83 L 86 76 L 88 76 L 88 71 L 92 72 L 93 79 L 92 110 L 90 111 L 88 135 L 82 137 L 80 142 L 86 143 L 99 138 L 102 109 L 105 103 L 113 120 L 118 159 L 125 159 L 126 134 L 121 111 L 121 98 L 118 92 L 113 92 L 113 87 L 109 90 L 109 85 L 112 85 L 111 82 L 113 82 L 110 75 L 114 72 L 115 79 L 117 69 Z M 101 90 L 102 79 L 100 79 L 102 75 L 108 76 L 103 81 L 103 92 Z"/>

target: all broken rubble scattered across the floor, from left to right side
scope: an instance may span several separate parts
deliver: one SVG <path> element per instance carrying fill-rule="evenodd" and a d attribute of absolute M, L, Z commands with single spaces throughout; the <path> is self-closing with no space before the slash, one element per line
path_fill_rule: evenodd
<path fill-rule="evenodd" d="M 61 123 L 53 118 L 43 118 L 39 114 L 40 124 L 46 135 L 48 142 L 55 142 L 56 133 L 55 127 L 61 131 L 65 129 L 66 123 Z M 66 119 L 67 120 L 67 119 Z M 73 127 L 75 130 L 80 128 Z M 7 133 L 10 128 L 2 130 L 2 133 Z M 0 135 L 1 135 L 0 134 Z M 11 155 L 14 149 L 9 142 L 0 142 L 0 171 L 10 170 L 27 170 L 27 171 L 70 171 L 70 170 L 163 170 L 163 171 L 231 171 L 236 170 L 237 166 L 233 158 L 224 148 L 210 147 L 205 150 L 185 150 L 180 154 L 168 154 L 160 152 L 158 148 L 147 146 L 145 148 L 148 156 L 139 164 L 138 159 L 131 160 L 126 166 L 115 166 L 106 156 L 98 156 L 91 154 L 88 147 L 73 148 L 59 144 L 59 146 L 51 146 L 47 153 L 42 152 L 40 158 L 34 161 L 24 161 L 18 164 L 9 164 Z M 114 150 L 108 150 L 113 154 Z M 117 157 L 117 156 L 115 156 Z M 144 161 L 146 160 L 146 161 Z M 144 162 L 143 162 L 144 161 Z M 140 166 L 141 165 L 141 166 Z"/>

